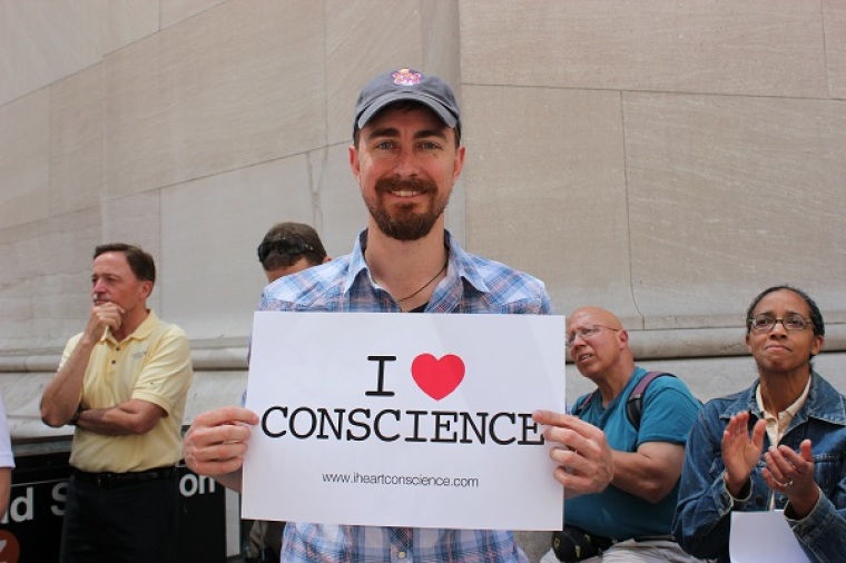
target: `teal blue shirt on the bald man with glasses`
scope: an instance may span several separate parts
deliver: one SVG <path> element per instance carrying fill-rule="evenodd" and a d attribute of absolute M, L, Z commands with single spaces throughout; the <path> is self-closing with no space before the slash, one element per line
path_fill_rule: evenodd
<path fill-rule="evenodd" d="M 646 374 L 646 369 L 636 367 L 622 393 L 608 408 L 603 408 L 602 401 L 596 396 L 579 414 L 582 421 L 601 428 L 611 448 L 619 452 L 634 452 L 645 442 L 683 445 L 701 408 L 685 382 L 678 377 L 658 377 L 643 394 L 638 432 L 626 416 L 626 402 Z M 583 398 L 579 397 L 573 405 L 580 405 Z M 676 483 L 661 502 L 652 504 L 610 485 L 601 493 L 564 501 L 564 522 L 617 540 L 670 535 L 678 487 Z"/>

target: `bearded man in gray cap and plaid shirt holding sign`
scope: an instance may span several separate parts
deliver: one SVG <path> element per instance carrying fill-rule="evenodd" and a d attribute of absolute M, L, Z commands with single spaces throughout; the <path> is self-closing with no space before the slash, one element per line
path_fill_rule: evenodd
<path fill-rule="evenodd" d="M 444 209 L 464 165 L 452 89 L 412 69 L 380 75 L 358 97 L 350 167 L 370 211 L 352 254 L 267 286 L 264 310 L 548 314 L 543 284 L 464 251 Z M 189 467 L 240 490 L 243 455 L 258 417 L 203 413 L 185 438 Z M 513 534 L 288 523 L 282 560 L 524 562 Z"/>

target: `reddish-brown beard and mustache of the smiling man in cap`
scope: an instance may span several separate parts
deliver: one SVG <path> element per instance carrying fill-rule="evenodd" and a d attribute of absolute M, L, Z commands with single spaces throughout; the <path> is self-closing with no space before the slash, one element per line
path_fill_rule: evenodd
<path fill-rule="evenodd" d="M 371 216 L 376 221 L 378 229 L 386 236 L 396 240 L 417 240 L 432 230 L 437 218 L 446 209 L 449 197 L 437 199 L 437 186 L 433 181 L 411 179 L 397 180 L 383 178 L 376 181 L 376 198 L 373 203 L 365 201 Z M 399 210 L 391 215 L 383 204 L 383 196 L 391 191 L 419 191 L 432 201 L 431 206 L 422 213 L 414 213 L 411 206 L 400 204 Z"/>

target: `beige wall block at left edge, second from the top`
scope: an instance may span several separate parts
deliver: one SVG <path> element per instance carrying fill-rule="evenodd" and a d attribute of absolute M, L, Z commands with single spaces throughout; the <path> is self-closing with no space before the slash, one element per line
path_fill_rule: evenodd
<path fill-rule="evenodd" d="M 0 228 L 49 214 L 49 115 L 46 89 L 0 107 Z"/>

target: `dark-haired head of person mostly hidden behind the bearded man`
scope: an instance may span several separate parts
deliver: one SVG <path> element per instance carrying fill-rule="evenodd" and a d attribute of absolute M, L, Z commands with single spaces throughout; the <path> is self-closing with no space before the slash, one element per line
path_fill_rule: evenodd
<path fill-rule="evenodd" d="M 328 260 L 317 231 L 304 223 L 277 223 L 258 245 L 258 261 L 268 284 Z"/>

